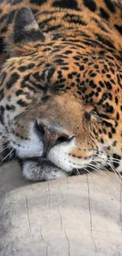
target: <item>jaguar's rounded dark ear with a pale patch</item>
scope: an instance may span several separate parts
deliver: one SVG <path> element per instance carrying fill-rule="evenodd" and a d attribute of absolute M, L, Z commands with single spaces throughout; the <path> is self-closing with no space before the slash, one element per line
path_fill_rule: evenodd
<path fill-rule="evenodd" d="M 37 43 L 43 43 L 45 36 L 39 28 L 35 17 L 29 8 L 21 8 L 15 14 L 13 25 L 9 26 L 9 36 L 6 39 L 8 52 L 11 56 L 31 54 Z"/>

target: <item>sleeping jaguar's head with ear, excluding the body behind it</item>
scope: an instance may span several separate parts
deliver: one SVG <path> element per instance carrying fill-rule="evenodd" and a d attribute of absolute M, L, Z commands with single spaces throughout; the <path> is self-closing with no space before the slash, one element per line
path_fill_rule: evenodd
<path fill-rule="evenodd" d="M 66 176 L 94 161 L 106 166 L 122 148 L 120 65 L 99 47 L 68 44 L 68 36 L 41 32 L 28 8 L 9 26 L 0 127 L 30 180 Z"/>

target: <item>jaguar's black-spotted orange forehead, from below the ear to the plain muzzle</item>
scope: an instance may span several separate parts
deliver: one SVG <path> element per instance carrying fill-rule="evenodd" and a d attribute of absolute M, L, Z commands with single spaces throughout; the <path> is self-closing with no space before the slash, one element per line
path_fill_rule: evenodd
<path fill-rule="evenodd" d="M 119 93 L 119 68 L 110 53 L 105 55 L 103 51 L 61 50 L 50 55 L 36 51 L 6 62 L 2 88 L 7 90 L 6 97 L 25 97 L 28 103 L 36 91 L 46 93 L 51 89 L 54 94 L 68 93 L 84 104 L 113 112 L 112 104 L 106 102 L 113 99 L 112 94 Z"/>

